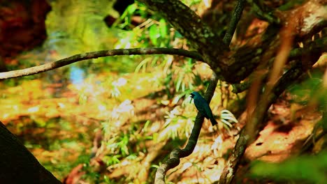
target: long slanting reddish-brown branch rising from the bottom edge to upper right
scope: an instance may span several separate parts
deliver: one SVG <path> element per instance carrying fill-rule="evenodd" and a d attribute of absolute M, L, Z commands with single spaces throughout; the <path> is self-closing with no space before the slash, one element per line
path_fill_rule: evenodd
<path fill-rule="evenodd" d="M 220 183 L 231 183 L 235 176 L 235 172 L 238 169 L 238 164 L 242 158 L 242 155 L 245 153 L 245 149 L 247 146 L 254 141 L 256 136 L 258 135 L 259 131 L 263 128 L 263 119 L 266 116 L 266 112 L 270 105 L 275 102 L 275 100 L 279 97 L 279 95 L 291 84 L 297 81 L 297 79 L 303 75 L 307 70 L 309 70 L 313 64 L 319 59 L 321 53 L 326 49 L 324 47 L 317 47 L 317 45 L 324 45 L 326 44 L 326 40 L 324 38 L 317 40 L 317 42 L 307 43 L 303 49 L 296 50 L 296 54 L 291 54 L 291 47 L 293 46 L 293 38 L 296 38 L 303 32 L 303 29 L 298 30 L 298 26 L 303 27 L 299 20 L 305 20 L 308 16 L 308 10 L 306 13 L 303 13 L 304 8 L 319 8 L 318 9 L 318 17 L 317 19 L 314 17 L 312 22 L 306 23 L 310 24 L 311 28 L 314 29 L 315 25 L 318 25 L 317 22 L 324 22 L 324 19 L 321 19 L 321 6 L 315 0 L 312 0 L 312 3 L 305 3 L 303 6 L 296 10 L 292 10 L 294 17 L 290 17 L 288 20 L 284 20 L 284 27 L 282 28 L 281 33 L 279 34 L 280 38 L 275 38 L 275 47 L 279 45 L 281 49 L 276 56 L 275 63 L 278 64 L 277 70 L 275 70 L 275 74 L 270 75 L 268 79 L 268 83 L 265 87 L 265 91 L 259 102 L 256 104 L 255 109 L 249 109 L 247 112 L 247 123 L 243 130 L 240 132 L 240 138 L 236 143 L 233 153 L 228 158 L 228 162 L 226 167 L 224 168 L 223 173 L 221 174 Z M 324 7 L 324 6 L 322 6 Z M 325 6 L 326 8 L 326 6 Z M 325 11 L 326 13 L 326 11 Z M 291 14 L 291 15 L 293 15 Z M 290 15 L 290 13 L 287 13 Z M 293 22 L 296 22 L 294 25 Z M 307 26 L 307 25 L 305 25 Z M 308 27 L 308 26 L 307 26 Z M 305 31 L 310 34 L 312 33 L 311 29 L 305 29 Z M 284 39 L 283 39 L 284 38 Z M 299 38 L 299 37 L 298 37 Z M 315 44 L 318 43 L 318 44 Z M 314 47 L 314 49 L 313 49 Z M 270 49 L 271 50 L 271 49 Z M 273 49 L 275 50 L 275 49 Z M 299 52 L 298 52 L 299 51 Z M 273 54 L 270 54 L 273 56 Z M 299 55 L 302 57 L 303 61 L 300 59 L 296 60 L 296 66 L 293 66 L 290 70 L 288 70 L 282 77 L 277 81 L 279 78 L 279 73 L 282 70 L 284 63 L 286 63 L 287 59 L 297 58 Z M 275 68 L 276 69 L 276 68 Z M 277 82 L 276 82 L 277 81 Z"/>

